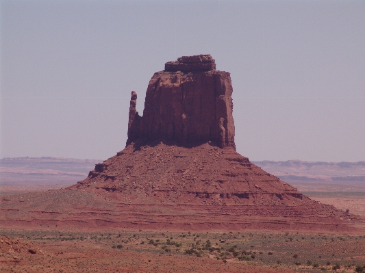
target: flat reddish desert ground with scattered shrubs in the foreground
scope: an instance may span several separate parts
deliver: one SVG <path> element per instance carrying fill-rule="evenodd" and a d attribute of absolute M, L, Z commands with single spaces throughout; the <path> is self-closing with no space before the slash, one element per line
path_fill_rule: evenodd
<path fill-rule="evenodd" d="M 1 272 L 354 272 L 365 265 L 365 234 L 0 234 Z"/>

